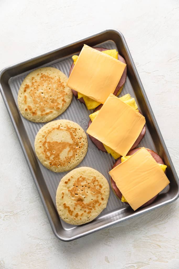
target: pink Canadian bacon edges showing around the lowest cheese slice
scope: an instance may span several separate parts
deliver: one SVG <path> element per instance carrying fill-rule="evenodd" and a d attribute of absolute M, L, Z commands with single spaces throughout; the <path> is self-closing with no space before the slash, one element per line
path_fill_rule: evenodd
<path fill-rule="evenodd" d="M 164 164 L 162 158 L 156 153 L 154 152 L 153 150 L 149 150 L 148 148 L 146 148 L 148 150 L 148 152 L 152 155 L 152 157 L 155 159 L 155 161 L 158 163 L 158 164 Z M 136 151 L 140 150 L 140 148 L 134 148 L 132 150 L 130 150 L 128 153 L 127 153 L 127 156 L 128 155 L 133 155 Z M 113 165 L 113 168 L 116 167 L 118 164 L 121 163 L 121 157 L 115 162 L 115 164 Z M 165 172 L 166 173 L 166 172 Z M 122 193 L 120 192 L 120 190 L 118 189 L 118 187 L 116 186 L 116 183 L 115 181 L 111 178 L 111 187 L 112 187 L 112 190 L 114 192 L 114 194 L 121 200 L 122 198 Z M 141 206 L 142 207 L 145 207 L 145 206 L 148 206 L 149 204 L 152 204 L 154 202 L 154 200 L 157 198 L 158 194 L 156 196 L 154 196 L 152 199 L 150 199 L 149 201 L 147 201 L 145 204 L 143 204 Z M 126 203 L 126 202 L 125 202 Z M 128 203 L 126 203 L 128 204 Z"/>

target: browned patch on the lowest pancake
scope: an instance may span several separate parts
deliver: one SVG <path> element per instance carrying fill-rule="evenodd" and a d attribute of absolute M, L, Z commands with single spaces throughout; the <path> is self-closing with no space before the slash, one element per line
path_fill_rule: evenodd
<path fill-rule="evenodd" d="M 69 210 L 70 212 L 73 212 L 72 216 L 78 218 L 85 213 L 89 215 L 93 210 L 96 210 L 96 208 L 101 205 L 101 202 L 99 201 L 102 195 L 100 190 L 101 184 L 95 176 L 93 176 L 91 179 L 88 179 L 84 176 L 79 176 L 73 185 L 73 187 L 68 189 L 71 199 L 75 200 L 75 205 L 73 208 L 74 210 L 78 208 L 78 210 L 82 210 L 82 212 L 80 215 L 76 215 L 77 213 L 75 214 L 75 212 L 72 211 L 70 207 L 68 207 L 68 212 Z M 85 202 L 85 199 L 87 199 L 89 195 L 92 197 L 92 199 L 88 202 Z"/>

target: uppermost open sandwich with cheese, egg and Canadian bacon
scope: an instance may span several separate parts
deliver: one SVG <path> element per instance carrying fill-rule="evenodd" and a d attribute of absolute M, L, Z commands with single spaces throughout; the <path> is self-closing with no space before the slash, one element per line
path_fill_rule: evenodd
<path fill-rule="evenodd" d="M 115 49 L 84 45 L 79 56 L 72 58 L 67 85 L 87 109 L 104 104 L 110 93 L 118 95 L 122 91 L 127 67 Z"/>

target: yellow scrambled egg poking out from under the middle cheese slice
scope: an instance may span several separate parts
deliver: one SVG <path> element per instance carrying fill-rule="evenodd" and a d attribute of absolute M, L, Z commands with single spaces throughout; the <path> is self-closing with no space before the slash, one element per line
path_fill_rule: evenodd
<path fill-rule="evenodd" d="M 122 97 L 119 97 L 119 99 L 120 99 L 121 101 L 125 102 L 127 105 L 130 105 L 130 107 L 132 107 L 132 108 L 134 108 L 135 110 L 138 111 L 138 107 L 137 107 L 136 101 L 135 101 L 134 98 L 132 98 L 132 97 L 130 96 L 129 93 L 128 93 L 128 94 L 125 94 L 125 95 L 122 96 Z M 89 115 L 91 121 L 94 121 L 94 119 L 96 118 L 96 116 L 98 115 L 98 113 L 99 113 L 99 110 Z M 103 145 L 104 145 L 106 151 L 107 151 L 109 154 L 111 154 L 112 157 L 113 157 L 114 159 L 118 159 L 118 158 L 120 157 L 120 155 L 119 155 L 118 153 L 116 153 L 114 150 L 112 150 L 111 148 L 109 148 L 109 147 L 106 146 L 105 144 L 103 144 Z"/>

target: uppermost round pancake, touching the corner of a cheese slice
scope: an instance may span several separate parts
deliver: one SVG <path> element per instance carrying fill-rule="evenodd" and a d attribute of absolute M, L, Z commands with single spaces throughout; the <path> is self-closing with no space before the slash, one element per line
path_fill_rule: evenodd
<path fill-rule="evenodd" d="M 22 116 L 29 121 L 47 122 L 62 114 L 70 105 L 72 91 L 67 76 L 53 67 L 29 73 L 23 80 L 17 101 Z"/>

